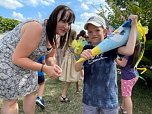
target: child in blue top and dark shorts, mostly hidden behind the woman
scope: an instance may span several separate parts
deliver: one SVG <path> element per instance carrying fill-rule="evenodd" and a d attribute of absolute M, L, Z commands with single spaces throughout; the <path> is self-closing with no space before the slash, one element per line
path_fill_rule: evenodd
<path fill-rule="evenodd" d="M 40 56 L 37 62 L 40 64 L 45 64 L 45 55 Z M 44 99 L 42 98 L 42 96 L 45 89 L 45 77 L 44 77 L 43 71 L 38 71 L 37 73 L 38 73 L 39 88 L 38 88 L 38 93 L 36 97 L 36 104 L 40 106 L 41 109 L 44 109 L 45 105 L 44 105 Z"/>

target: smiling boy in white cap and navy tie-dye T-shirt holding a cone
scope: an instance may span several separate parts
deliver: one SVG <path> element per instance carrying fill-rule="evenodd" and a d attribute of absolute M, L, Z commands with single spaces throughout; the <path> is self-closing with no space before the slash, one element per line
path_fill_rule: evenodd
<path fill-rule="evenodd" d="M 118 114 L 118 88 L 116 83 L 117 54 L 133 54 L 136 42 L 137 16 L 131 15 L 131 31 L 126 46 L 113 49 L 95 57 L 91 49 L 106 37 L 106 22 L 100 16 L 88 19 L 84 28 L 88 31 L 90 45 L 84 47 L 80 57 L 86 58 L 85 62 L 75 64 L 76 71 L 84 68 L 83 88 L 83 113 L 84 114 Z"/>

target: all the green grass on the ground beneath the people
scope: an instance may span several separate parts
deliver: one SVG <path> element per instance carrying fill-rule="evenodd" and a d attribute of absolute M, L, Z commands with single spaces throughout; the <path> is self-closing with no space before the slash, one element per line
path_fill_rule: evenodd
<path fill-rule="evenodd" d="M 59 101 L 63 85 L 64 83 L 61 81 L 47 79 L 43 97 L 46 101 L 46 109 L 42 111 L 37 107 L 36 114 L 82 114 L 82 92 L 75 93 L 75 83 L 71 84 L 68 91 L 71 102 L 61 103 Z M 80 82 L 80 85 L 83 86 L 83 83 Z M 118 85 L 120 85 L 119 80 Z M 152 85 L 146 86 L 144 81 L 139 79 L 134 87 L 132 98 L 134 103 L 133 114 L 152 114 Z M 23 114 L 21 99 L 19 100 L 19 106 L 19 114 Z"/>

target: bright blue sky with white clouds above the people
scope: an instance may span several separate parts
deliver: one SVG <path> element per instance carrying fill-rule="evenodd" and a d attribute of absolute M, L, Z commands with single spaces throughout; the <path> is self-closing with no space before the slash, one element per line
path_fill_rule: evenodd
<path fill-rule="evenodd" d="M 105 7 L 105 0 L 0 0 L 0 16 L 20 21 L 27 19 L 44 20 L 53 9 L 61 4 L 69 6 L 76 15 L 72 28 L 77 32 L 83 29 L 87 19 Z"/>

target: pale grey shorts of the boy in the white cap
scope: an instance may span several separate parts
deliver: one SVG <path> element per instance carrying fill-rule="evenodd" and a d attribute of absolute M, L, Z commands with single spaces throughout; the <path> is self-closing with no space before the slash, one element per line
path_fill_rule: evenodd
<path fill-rule="evenodd" d="M 83 114 L 118 114 L 118 108 L 102 109 L 83 103 Z"/>

